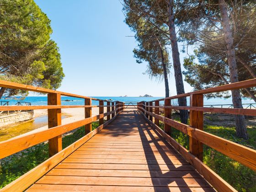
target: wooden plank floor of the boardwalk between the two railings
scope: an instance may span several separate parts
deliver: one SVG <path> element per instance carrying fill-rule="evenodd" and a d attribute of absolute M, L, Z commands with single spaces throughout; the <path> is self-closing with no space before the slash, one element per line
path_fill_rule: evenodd
<path fill-rule="evenodd" d="M 214 191 L 144 117 L 126 109 L 27 191 Z"/>

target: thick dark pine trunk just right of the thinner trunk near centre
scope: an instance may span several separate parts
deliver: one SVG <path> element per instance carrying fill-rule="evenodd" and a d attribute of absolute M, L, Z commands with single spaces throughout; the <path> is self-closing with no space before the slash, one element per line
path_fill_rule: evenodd
<path fill-rule="evenodd" d="M 174 69 L 174 77 L 176 82 L 176 91 L 177 95 L 185 93 L 182 73 L 181 73 L 181 62 L 180 62 L 180 53 L 177 43 L 175 24 L 174 24 L 174 13 L 173 13 L 173 0 L 169 0 L 168 2 L 168 26 L 169 33 L 171 39 L 171 52 L 172 52 L 172 60 L 173 60 L 173 69 Z M 178 98 L 179 106 L 187 106 L 187 98 L 182 97 Z M 180 110 L 181 114 L 181 123 L 187 124 L 188 120 L 188 111 Z"/>

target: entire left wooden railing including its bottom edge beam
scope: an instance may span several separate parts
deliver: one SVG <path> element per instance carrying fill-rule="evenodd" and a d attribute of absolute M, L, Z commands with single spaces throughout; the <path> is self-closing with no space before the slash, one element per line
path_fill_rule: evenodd
<path fill-rule="evenodd" d="M 61 91 L 49 90 L 31 85 L 23 85 L 9 81 L 0 80 L 0 87 L 21 89 L 27 91 L 35 91 L 40 93 L 47 93 L 47 106 L 31 106 L 31 105 L 17 105 L 17 106 L 0 106 L 0 111 L 17 111 L 17 110 L 36 110 L 48 109 L 48 129 L 40 130 L 32 133 L 25 133 L 23 135 L 11 138 L 9 140 L 0 142 L 0 159 L 9 155 L 13 155 L 21 150 L 32 147 L 36 144 L 48 141 L 49 159 L 38 165 L 31 171 L 28 171 L 23 176 L 19 177 L 12 183 L 5 186 L 3 191 L 22 191 L 29 187 L 34 181 L 43 176 L 47 171 L 52 169 L 59 163 L 60 160 L 67 157 L 75 149 L 84 144 L 93 135 L 98 133 L 108 123 L 110 123 L 117 114 L 124 109 L 124 103 L 120 101 L 103 101 L 101 99 L 91 98 L 87 96 L 80 96 Z M 61 105 L 61 96 L 72 96 L 85 99 L 85 105 Z M 91 101 L 99 101 L 99 105 L 92 105 Z M 107 102 L 107 105 L 104 105 Z M 99 114 L 92 116 L 92 107 L 99 107 Z M 104 113 L 104 107 L 107 107 L 107 112 Z M 85 108 L 85 119 L 69 124 L 61 124 L 61 109 L 63 108 Z M 107 121 L 104 123 L 104 117 L 107 116 Z M 92 122 L 99 120 L 99 127 L 92 131 Z M 72 131 L 76 128 L 85 126 L 85 136 L 62 149 L 62 134 Z"/>

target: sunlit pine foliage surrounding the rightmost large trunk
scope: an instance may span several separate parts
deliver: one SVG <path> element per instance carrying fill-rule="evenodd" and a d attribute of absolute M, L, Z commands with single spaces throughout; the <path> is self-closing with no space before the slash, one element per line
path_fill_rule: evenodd
<path fill-rule="evenodd" d="M 256 6 L 247 0 L 241 1 L 241 4 L 232 0 L 225 2 L 235 47 L 238 80 L 249 80 L 253 78 L 252 74 L 256 73 Z M 184 11 L 187 14 L 184 14 Z M 181 39 L 197 48 L 195 55 L 184 59 L 185 80 L 195 90 L 229 84 L 232 68 L 229 68 L 228 64 L 218 1 L 184 1 L 177 18 L 182 23 Z M 255 88 L 241 89 L 242 96 L 251 98 L 250 91 L 251 94 L 256 94 Z M 230 92 L 212 93 L 207 96 L 229 97 Z"/>

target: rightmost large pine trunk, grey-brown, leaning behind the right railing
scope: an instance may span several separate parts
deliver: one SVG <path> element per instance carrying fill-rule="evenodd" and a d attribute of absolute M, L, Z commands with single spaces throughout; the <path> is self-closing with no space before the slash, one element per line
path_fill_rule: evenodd
<path fill-rule="evenodd" d="M 224 0 L 219 0 L 219 10 L 222 16 L 222 26 L 224 29 L 225 43 L 228 52 L 228 63 L 229 63 L 229 73 L 230 73 L 230 82 L 238 82 L 238 73 L 237 65 L 235 61 L 235 48 L 233 43 L 233 36 L 230 28 L 230 21 L 228 16 L 228 11 L 225 5 Z M 243 108 L 242 100 L 239 90 L 233 90 L 232 101 L 235 108 Z M 235 126 L 236 126 L 236 135 L 243 139 L 248 139 L 248 133 L 245 125 L 245 116 L 244 115 L 235 115 Z"/>

